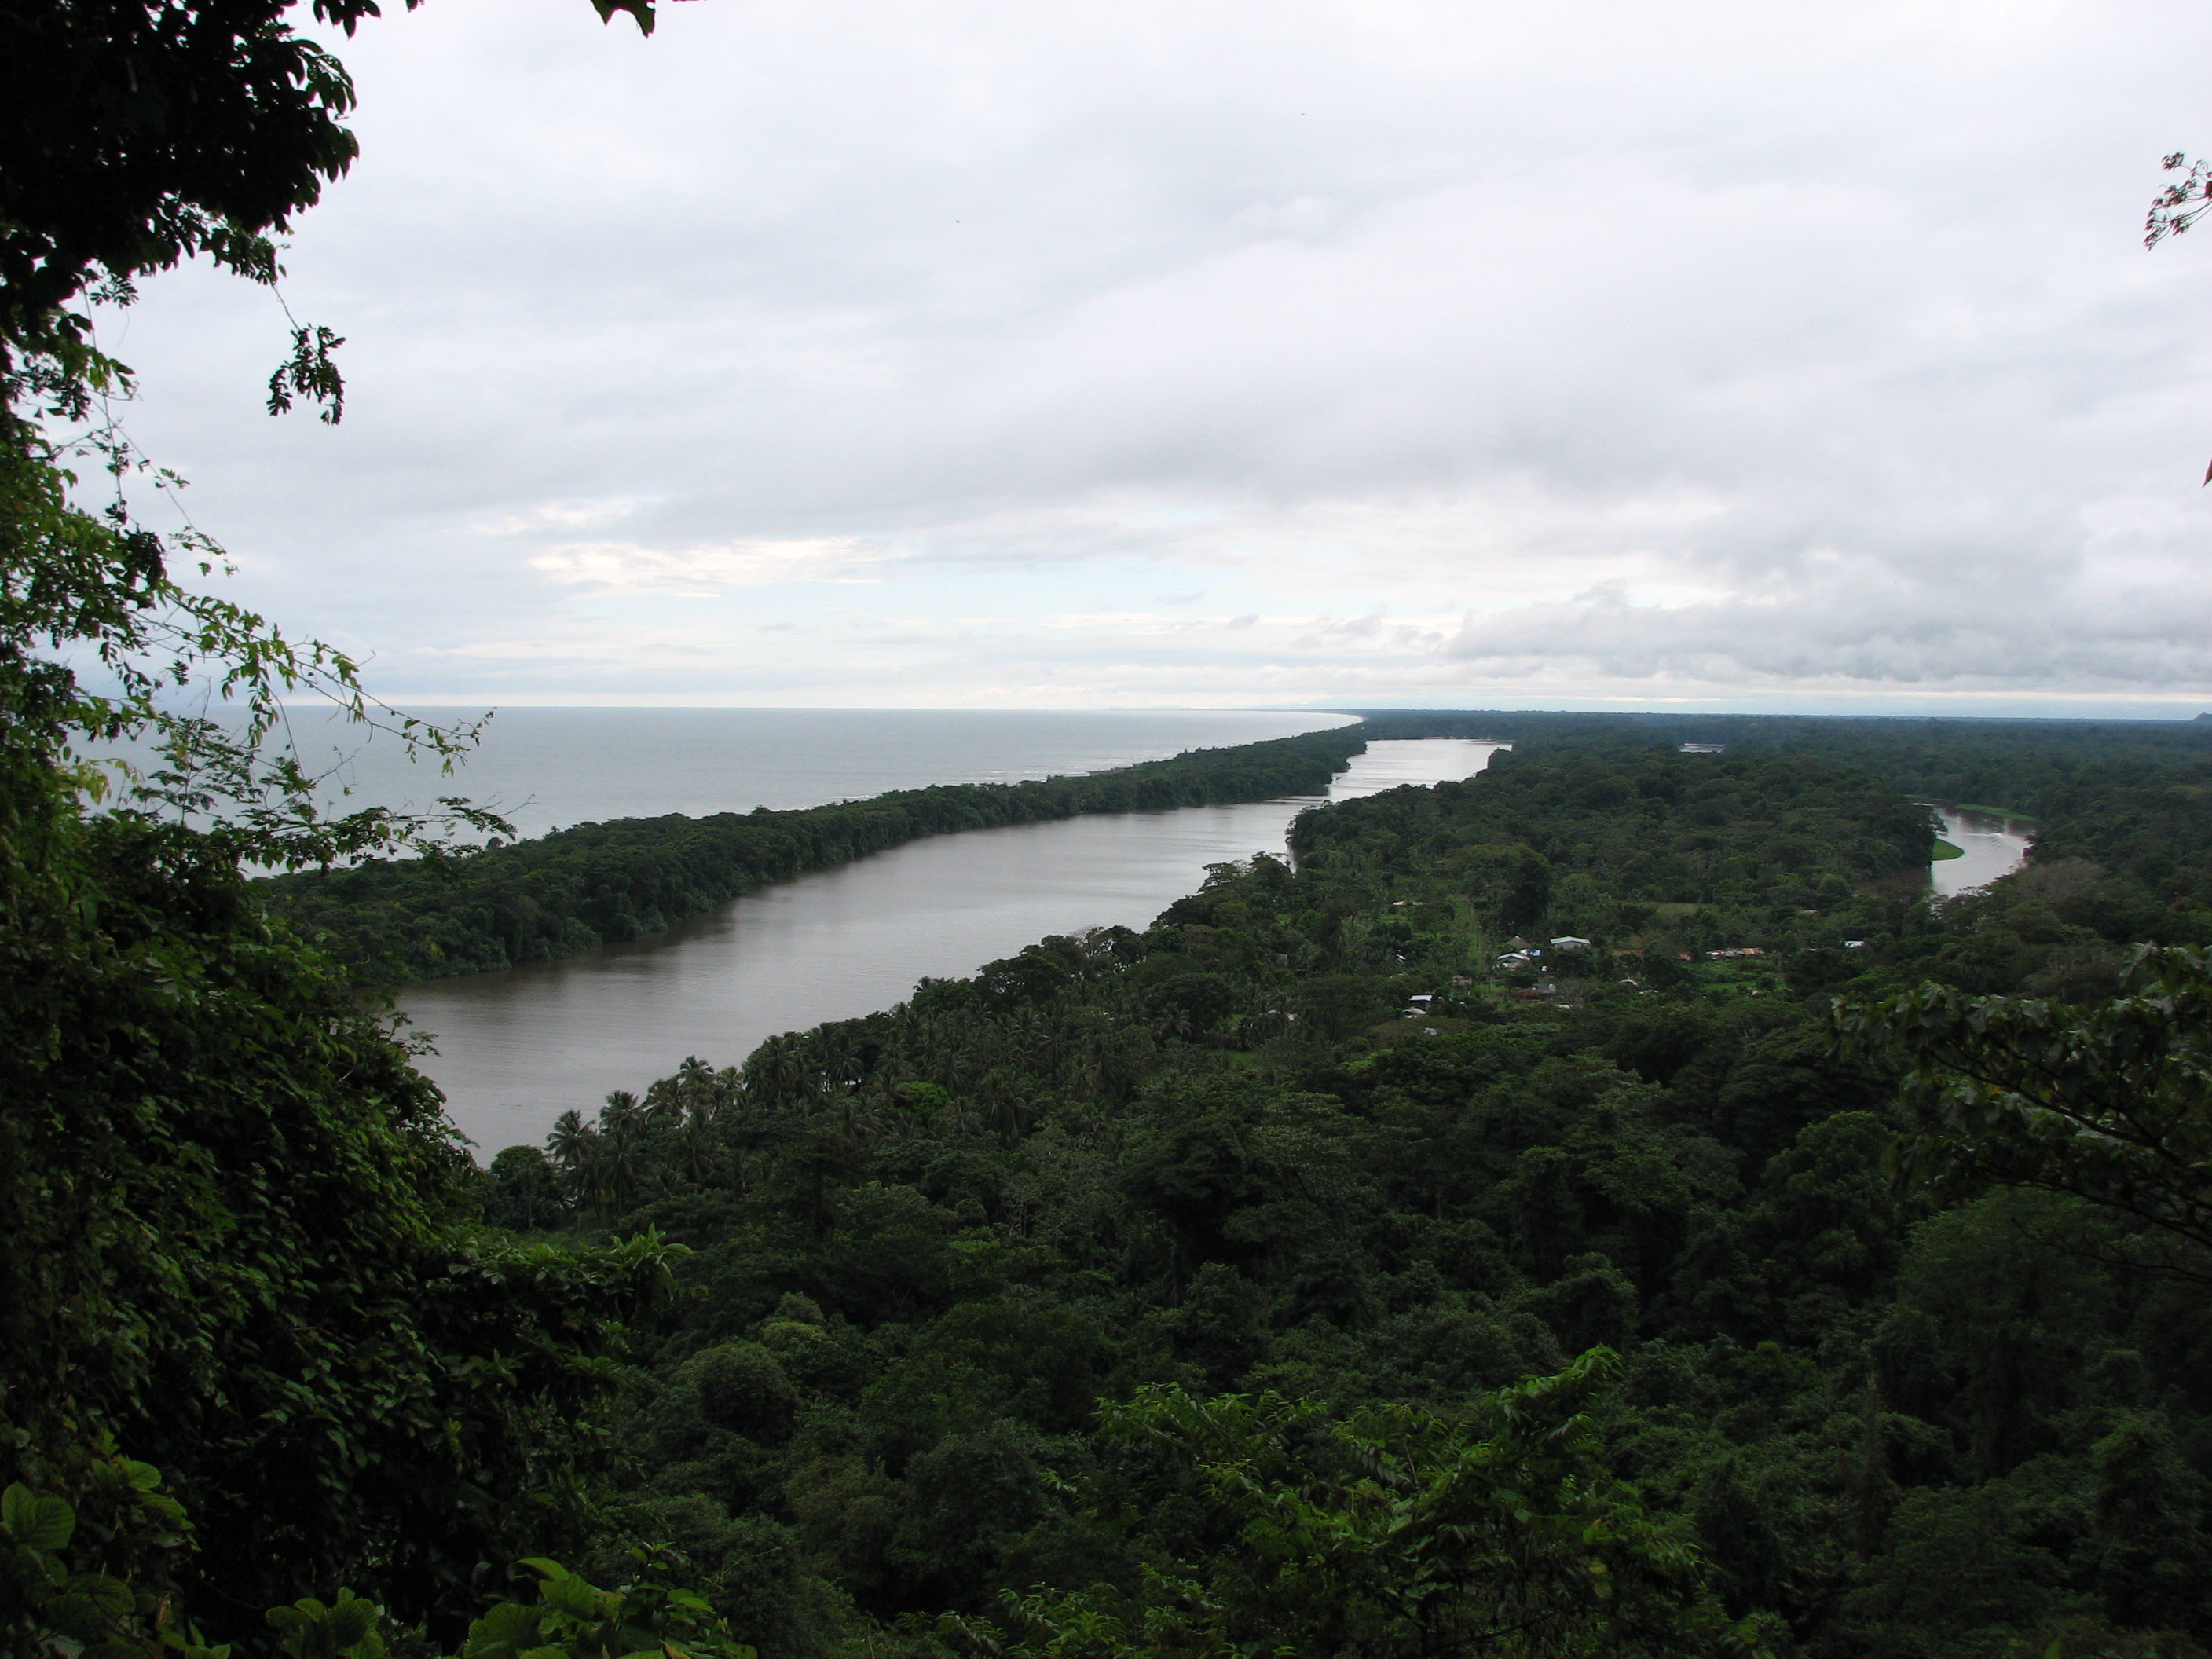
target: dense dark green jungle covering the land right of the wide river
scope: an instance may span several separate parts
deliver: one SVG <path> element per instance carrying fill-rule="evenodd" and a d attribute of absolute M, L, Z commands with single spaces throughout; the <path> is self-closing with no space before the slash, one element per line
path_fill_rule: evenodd
<path fill-rule="evenodd" d="M 571 1115 L 495 1159 L 491 1214 L 659 1225 L 697 1292 L 602 1524 L 681 1546 L 768 1655 L 836 1646 L 845 1597 L 953 1648 L 1482 1650 L 1374 1599 L 1425 1582 L 1360 1544 L 1429 1491 L 1389 1438 L 1610 1347 L 1588 1491 L 1632 1482 L 1750 1639 L 2197 1652 L 2212 1316 L 2163 1270 L 2203 1252 L 2020 1170 L 1900 1188 L 1902 1066 L 1827 1015 L 1922 978 L 2110 995 L 2126 936 L 2022 933 L 2033 867 L 1931 907 L 1885 874 L 1927 843 L 1851 768 L 1528 741 L 1301 818 L 1296 869 L 1223 867 L 1141 936 Z M 1590 947 L 1500 969 L 1515 931 Z M 1208 1440 L 1254 1422 L 1265 1467 Z M 1694 1579 L 1661 1606 L 1703 1617 Z"/>

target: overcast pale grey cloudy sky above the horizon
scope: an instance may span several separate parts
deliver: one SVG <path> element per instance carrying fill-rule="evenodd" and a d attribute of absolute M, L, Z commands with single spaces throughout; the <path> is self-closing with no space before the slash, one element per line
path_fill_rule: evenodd
<path fill-rule="evenodd" d="M 398 4 L 389 7 L 398 13 Z M 389 697 L 2212 708 L 2201 4 L 429 0 L 104 323 Z M 159 522 L 159 509 L 150 518 Z"/>

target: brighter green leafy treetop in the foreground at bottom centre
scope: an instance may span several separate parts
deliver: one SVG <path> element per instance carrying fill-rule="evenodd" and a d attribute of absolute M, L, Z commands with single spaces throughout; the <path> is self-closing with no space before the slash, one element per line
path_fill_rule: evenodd
<path fill-rule="evenodd" d="M 1024 1655 L 1750 1652 L 1697 1551 L 1604 1462 L 1590 1405 L 1608 1349 L 1458 1416 L 1380 1407 L 1323 1431 L 1318 1402 L 1148 1387 L 1108 1438 L 1194 1480 L 1217 1551 L 1135 1599 L 1009 1597 Z"/>

